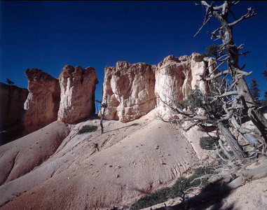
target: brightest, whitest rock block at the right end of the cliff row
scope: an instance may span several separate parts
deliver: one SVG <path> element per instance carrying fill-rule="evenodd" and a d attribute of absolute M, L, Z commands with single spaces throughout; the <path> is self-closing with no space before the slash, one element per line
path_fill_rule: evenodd
<path fill-rule="evenodd" d="M 155 86 L 158 111 L 162 115 L 169 113 L 170 109 L 163 102 L 168 104 L 182 102 L 195 86 L 206 93 L 208 83 L 201 80 L 201 77 L 205 77 L 207 72 L 216 67 L 216 63 L 213 62 L 213 58 L 203 58 L 196 52 L 191 56 L 169 55 L 160 62 L 156 71 Z"/>

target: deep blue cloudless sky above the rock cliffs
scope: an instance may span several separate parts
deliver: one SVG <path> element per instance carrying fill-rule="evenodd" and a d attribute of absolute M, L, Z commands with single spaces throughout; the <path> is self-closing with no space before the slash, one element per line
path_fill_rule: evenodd
<path fill-rule="evenodd" d="M 205 15 L 195 2 L 200 1 L 1 1 L 0 82 L 9 78 L 27 87 L 28 68 L 58 77 L 65 64 L 93 66 L 100 81 L 96 99 L 101 99 L 105 66 L 118 61 L 158 64 L 167 55 L 201 53 L 221 43 L 207 34 L 217 29 L 217 20 L 193 37 Z M 240 58 L 240 66 L 246 63 L 244 70 L 254 72 L 263 95 L 267 1 L 241 1 L 233 7 L 235 16 L 247 13 L 249 6 L 257 15 L 236 25 L 233 37 L 238 45 L 245 43 L 244 52 L 252 51 Z"/>

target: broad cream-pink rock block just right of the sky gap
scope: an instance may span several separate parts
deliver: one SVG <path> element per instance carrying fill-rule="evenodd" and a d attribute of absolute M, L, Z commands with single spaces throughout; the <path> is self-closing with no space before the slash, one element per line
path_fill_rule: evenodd
<path fill-rule="evenodd" d="M 155 65 L 117 62 L 104 69 L 102 99 L 108 106 L 107 120 L 128 122 L 135 120 L 156 107 Z"/>

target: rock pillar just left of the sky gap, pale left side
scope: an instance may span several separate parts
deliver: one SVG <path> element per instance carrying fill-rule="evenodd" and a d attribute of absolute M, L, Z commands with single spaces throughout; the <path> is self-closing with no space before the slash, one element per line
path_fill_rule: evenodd
<path fill-rule="evenodd" d="M 61 100 L 57 120 L 74 123 L 95 112 L 95 85 L 98 83 L 93 67 L 82 69 L 65 65 L 60 73 Z"/>

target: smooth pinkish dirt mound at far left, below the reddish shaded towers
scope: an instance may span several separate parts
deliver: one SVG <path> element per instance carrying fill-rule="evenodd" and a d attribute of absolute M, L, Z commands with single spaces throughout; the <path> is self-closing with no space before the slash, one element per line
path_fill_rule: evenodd
<path fill-rule="evenodd" d="M 54 122 L 21 139 L 0 147 L 0 184 L 31 172 L 41 165 L 68 136 L 67 125 Z"/>

